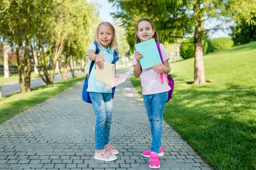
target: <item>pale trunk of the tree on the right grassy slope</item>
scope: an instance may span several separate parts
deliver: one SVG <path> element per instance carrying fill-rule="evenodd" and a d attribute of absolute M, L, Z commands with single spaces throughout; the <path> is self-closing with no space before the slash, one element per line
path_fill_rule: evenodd
<path fill-rule="evenodd" d="M 196 4 L 195 16 L 197 18 L 197 25 L 195 28 L 195 71 L 193 84 L 206 84 L 203 64 L 203 45 L 202 45 L 202 23 L 201 23 L 201 9 L 200 4 Z"/>

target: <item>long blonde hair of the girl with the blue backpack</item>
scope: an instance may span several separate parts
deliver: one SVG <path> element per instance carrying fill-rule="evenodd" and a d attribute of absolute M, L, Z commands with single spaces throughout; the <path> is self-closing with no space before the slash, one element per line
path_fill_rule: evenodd
<path fill-rule="evenodd" d="M 100 52 L 102 52 L 102 50 L 101 50 L 102 45 L 100 44 L 100 41 L 99 41 L 99 39 L 97 37 L 98 33 L 99 33 L 99 28 L 102 25 L 108 26 L 110 28 L 110 30 L 112 30 L 112 40 L 111 40 L 110 45 L 108 47 L 110 47 L 110 49 L 113 48 L 117 52 L 117 56 L 118 56 L 119 55 L 119 50 L 118 50 L 118 45 L 117 45 L 117 36 L 115 34 L 114 26 L 112 26 L 111 23 L 109 23 L 109 22 L 101 22 L 97 26 L 97 28 L 96 28 L 95 35 L 93 37 L 92 42 L 97 42 L 97 45 L 98 45 L 98 47 L 100 49 Z M 103 54 L 103 52 L 102 52 L 102 54 Z"/>

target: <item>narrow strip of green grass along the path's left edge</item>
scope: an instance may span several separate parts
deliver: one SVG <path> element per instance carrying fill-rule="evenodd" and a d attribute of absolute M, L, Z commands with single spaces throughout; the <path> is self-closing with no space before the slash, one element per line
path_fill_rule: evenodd
<path fill-rule="evenodd" d="M 0 99 L 0 123 L 4 123 L 9 118 L 28 110 L 38 103 L 46 101 L 48 98 L 59 94 L 61 91 L 68 89 L 85 79 L 85 76 L 75 77 L 67 81 L 58 81 L 54 84 L 38 86 L 31 89 L 31 92 L 26 94 L 16 93 L 9 96 L 4 96 Z"/>

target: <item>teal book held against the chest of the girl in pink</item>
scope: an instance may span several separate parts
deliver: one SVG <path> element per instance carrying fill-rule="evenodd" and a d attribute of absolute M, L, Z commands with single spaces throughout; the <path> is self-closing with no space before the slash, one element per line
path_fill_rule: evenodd
<path fill-rule="evenodd" d="M 155 63 L 161 63 L 161 58 L 154 38 L 136 44 L 135 48 L 143 55 L 143 57 L 139 59 L 142 69 L 148 69 L 153 67 Z"/>

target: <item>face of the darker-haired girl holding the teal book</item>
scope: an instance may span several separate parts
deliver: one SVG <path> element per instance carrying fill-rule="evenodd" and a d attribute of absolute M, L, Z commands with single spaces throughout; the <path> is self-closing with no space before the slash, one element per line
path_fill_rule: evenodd
<path fill-rule="evenodd" d="M 148 21 L 142 21 L 138 24 L 137 35 L 140 40 L 146 41 L 153 38 L 155 30 L 152 29 L 151 24 Z"/>

